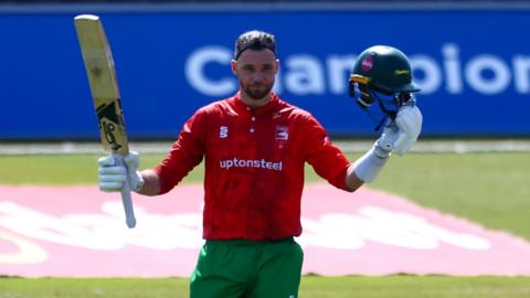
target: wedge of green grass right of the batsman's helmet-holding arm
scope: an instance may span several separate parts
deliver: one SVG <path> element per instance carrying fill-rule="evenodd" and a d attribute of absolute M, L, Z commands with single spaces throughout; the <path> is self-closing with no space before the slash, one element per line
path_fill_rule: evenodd
<path fill-rule="evenodd" d="M 530 240 L 530 152 L 393 157 L 372 188 Z"/>

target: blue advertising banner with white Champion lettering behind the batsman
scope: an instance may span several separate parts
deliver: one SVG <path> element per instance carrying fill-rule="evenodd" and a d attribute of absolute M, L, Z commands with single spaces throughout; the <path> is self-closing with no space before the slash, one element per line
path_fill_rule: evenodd
<path fill-rule="evenodd" d="M 0 139 L 97 139 L 73 25 L 76 13 L 0 17 Z M 348 96 L 357 55 L 386 44 L 407 54 L 423 136 L 530 136 L 530 10 L 107 12 L 125 121 L 132 139 L 174 139 L 192 113 L 234 94 L 235 39 L 272 32 L 275 91 L 333 136 L 373 136 Z"/>

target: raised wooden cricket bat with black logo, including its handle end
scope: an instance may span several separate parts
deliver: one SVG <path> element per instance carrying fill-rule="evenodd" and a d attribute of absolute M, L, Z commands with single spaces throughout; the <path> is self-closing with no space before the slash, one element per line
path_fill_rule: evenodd
<path fill-rule="evenodd" d="M 115 156 L 123 164 L 124 157 L 129 152 L 129 146 L 113 53 L 102 20 L 97 15 L 81 14 L 74 18 L 74 23 L 96 108 L 102 145 L 106 152 Z M 127 226 L 132 228 L 136 219 L 127 181 L 121 191 L 121 201 Z"/>

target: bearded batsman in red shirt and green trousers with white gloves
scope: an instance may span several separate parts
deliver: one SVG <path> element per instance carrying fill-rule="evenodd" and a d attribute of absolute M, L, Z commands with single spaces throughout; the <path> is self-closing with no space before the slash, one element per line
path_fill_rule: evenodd
<path fill-rule="evenodd" d="M 197 110 L 158 167 L 138 172 L 136 152 L 125 166 L 102 158 L 99 188 L 119 191 L 127 180 L 140 194 L 162 194 L 204 159 L 206 242 L 190 297 L 298 297 L 303 252 L 294 237 L 301 233 L 305 163 L 352 192 L 375 178 L 392 150 L 410 149 L 421 113 L 401 107 L 373 148 L 350 163 L 309 113 L 272 92 L 279 67 L 274 35 L 243 33 L 231 66 L 240 91 Z"/>

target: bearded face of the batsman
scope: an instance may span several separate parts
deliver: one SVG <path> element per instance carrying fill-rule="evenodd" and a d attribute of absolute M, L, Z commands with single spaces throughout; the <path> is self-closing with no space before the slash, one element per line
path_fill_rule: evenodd
<path fill-rule="evenodd" d="M 268 49 L 246 50 L 237 61 L 232 61 L 232 71 L 240 79 L 242 98 L 262 100 L 273 89 L 278 60 Z"/>

